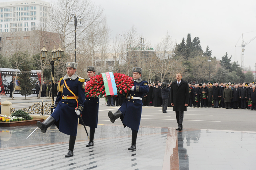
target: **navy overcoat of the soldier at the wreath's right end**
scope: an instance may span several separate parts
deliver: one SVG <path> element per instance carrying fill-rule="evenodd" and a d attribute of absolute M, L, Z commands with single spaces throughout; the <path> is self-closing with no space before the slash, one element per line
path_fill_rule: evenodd
<path fill-rule="evenodd" d="M 142 97 L 144 93 L 148 92 L 148 82 L 134 81 L 134 91 L 129 91 L 129 97 Z M 140 99 L 131 99 L 126 98 L 119 108 L 119 110 L 123 113 L 120 119 L 124 127 L 128 126 L 129 128 L 138 131 L 140 126 L 140 118 L 142 112 L 142 100 Z"/>

